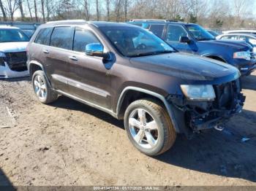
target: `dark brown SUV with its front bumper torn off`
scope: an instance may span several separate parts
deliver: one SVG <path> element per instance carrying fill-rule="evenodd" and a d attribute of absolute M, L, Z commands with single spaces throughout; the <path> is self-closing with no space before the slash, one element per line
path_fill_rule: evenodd
<path fill-rule="evenodd" d="M 40 102 L 66 95 L 124 120 L 146 155 L 165 152 L 176 133 L 222 130 L 244 104 L 236 68 L 180 53 L 125 23 L 47 23 L 31 38 L 28 59 Z"/>

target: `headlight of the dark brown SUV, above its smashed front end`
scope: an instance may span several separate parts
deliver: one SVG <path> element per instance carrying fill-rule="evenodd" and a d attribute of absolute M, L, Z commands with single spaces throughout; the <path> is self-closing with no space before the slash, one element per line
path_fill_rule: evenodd
<path fill-rule="evenodd" d="M 216 98 L 212 85 L 181 85 L 181 90 L 192 101 L 214 101 Z"/>

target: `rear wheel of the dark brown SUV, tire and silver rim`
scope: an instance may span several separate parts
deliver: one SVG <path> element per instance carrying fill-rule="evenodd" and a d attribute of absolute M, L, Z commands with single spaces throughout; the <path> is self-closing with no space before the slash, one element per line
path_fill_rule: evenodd
<path fill-rule="evenodd" d="M 48 84 L 44 71 L 35 71 L 32 77 L 32 83 L 34 93 L 42 104 L 50 104 L 58 98 L 58 94 Z"/>

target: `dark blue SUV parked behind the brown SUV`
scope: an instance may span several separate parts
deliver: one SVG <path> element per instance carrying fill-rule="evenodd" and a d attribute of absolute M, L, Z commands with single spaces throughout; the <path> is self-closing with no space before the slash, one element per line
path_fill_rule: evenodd
<path fill-rule="evenodd" d="M 168 20 L 130 20 L 161 37 L 177 50 L 201 55 L 236 66 L 242 75 L 255 70 L 255 54 L 246 42 L 216 40 L 203 27 Z"/>

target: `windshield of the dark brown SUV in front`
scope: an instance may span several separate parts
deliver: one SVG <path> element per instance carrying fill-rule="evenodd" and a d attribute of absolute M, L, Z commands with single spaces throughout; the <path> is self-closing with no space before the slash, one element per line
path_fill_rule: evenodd
<path fill-rule="evenodd" d="M 118 52 L 127 57 L 174 52 L 169 44 L 143 28 L 102 26 L 99 29 L 108 37 Z"/>

